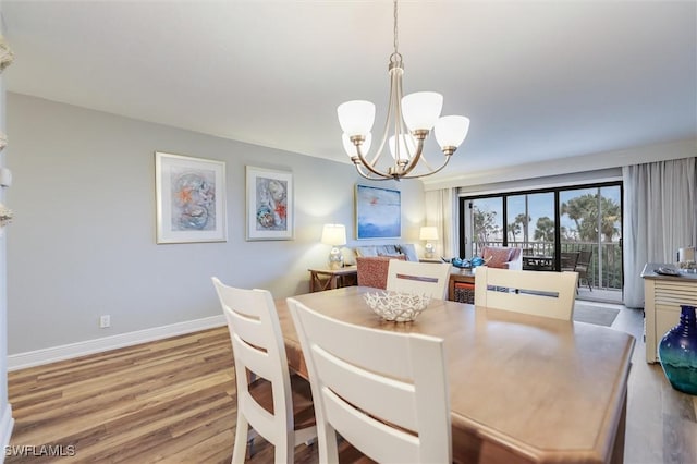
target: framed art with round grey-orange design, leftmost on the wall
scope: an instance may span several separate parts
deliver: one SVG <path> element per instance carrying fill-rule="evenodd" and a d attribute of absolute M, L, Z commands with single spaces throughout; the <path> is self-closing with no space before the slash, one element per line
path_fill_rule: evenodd
<path fill-rule="evenodd" d="M 225 162 L 155 152 L 158 244 L 227 242 Z"/>

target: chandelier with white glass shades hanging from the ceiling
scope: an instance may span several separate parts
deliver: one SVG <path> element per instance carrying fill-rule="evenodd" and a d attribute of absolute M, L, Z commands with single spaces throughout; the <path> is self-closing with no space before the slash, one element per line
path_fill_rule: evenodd
<path fill-rule="evenodd" d="M 399 181 L 435 174 L 448 164 L 450 157 L 467 136 L 469 119 L 461 115 L 439 118 L 443 96 L 435 91 L 418 91 L 402 96 L 404 65 L 402 56 L 398 52 L 396 0 L 394 0 L 394 52 L 390 56 L 388 69 L 390 103 L 382 141 L 376 154 L 369 159 L 375 105 L 365 100 L 346 101 L 337 108 L 339 124 L 344 132 L 342 135 L 344 149 L 358 173 L 366 179 Z M 436 168 L 426 160 L 423 152 L 424 142 L 431 129 L 444 156 L 440 166 Z M 392 155 L 392 161 L 383 162 L 383 167 L 380 167 L 378 162 L 386 143 Z M 423 163 L 417 169 L 420 161 Z M 388 166 L 384 167 L 384 164 Z"/>

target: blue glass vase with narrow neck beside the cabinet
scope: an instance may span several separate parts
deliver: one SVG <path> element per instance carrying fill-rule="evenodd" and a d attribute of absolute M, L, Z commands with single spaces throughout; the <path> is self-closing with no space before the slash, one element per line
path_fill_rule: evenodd
<path fill-rule="evenodd" d="M 697 318 L 695 306 L 680 306 L 680 323 L 665 332 L 658 358 L 675 390 L 697 394 Z"/>

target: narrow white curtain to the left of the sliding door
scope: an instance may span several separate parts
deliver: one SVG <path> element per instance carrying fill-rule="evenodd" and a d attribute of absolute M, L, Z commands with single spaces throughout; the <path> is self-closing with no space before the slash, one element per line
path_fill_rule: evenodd
<path fill-rule="evenodd" d="M 426 192 L 426 225 L 438 229 L 436 256 L 455 256 L 455 192 L 453 188 Z"/>

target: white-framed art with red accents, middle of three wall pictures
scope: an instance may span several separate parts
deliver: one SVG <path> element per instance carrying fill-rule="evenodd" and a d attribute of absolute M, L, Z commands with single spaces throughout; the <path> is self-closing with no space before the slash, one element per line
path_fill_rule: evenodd
<path fill-rule="evenodd" d="M 293 240 L 293 173 L 246 167 L 246 240 Z"/>

